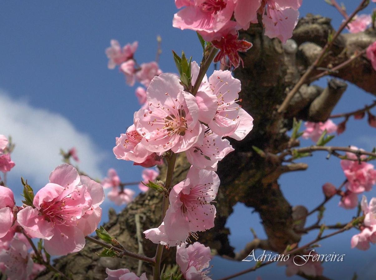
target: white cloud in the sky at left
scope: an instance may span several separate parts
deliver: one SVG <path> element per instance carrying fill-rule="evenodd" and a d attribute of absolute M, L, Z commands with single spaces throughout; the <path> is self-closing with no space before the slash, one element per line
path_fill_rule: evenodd
<path fill-rule="evenodd" d="M 50 172 L 61 164 L 60 149 L 76 147 L 79 167 L 93 178 L 102 178 L 99 163 L 104 153 L 89 135 L 77 131 L 60 114 L 33 107 L 26 99 L 12 99 L 0 90 L 0 134 L 11 135 L 16 166 L 9 177 L 23 176 L 36 184 L 47 183 Z"/>

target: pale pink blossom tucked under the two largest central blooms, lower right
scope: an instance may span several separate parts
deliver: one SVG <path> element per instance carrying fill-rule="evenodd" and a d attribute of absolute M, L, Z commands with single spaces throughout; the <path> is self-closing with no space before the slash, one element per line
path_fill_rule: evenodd
<path fill-rule="evenodd" d="M 197 169 L 217 171 L 218 162 L 234 151 L 229 140 L 223 139 L 210 129 L 204 135 L 203 144 L 185 152 L 187 160 Z"/>

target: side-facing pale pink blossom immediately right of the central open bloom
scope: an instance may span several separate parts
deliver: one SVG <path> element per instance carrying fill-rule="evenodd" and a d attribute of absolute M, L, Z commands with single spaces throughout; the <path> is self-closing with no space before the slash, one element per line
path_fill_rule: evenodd
<path fill-rule="evenodd" d="M 253 118 L 237 104 L 240 80 L 228 70 L 216 70 L 209 77 L 209 84 L 212 94 L 217 96 L 217 108 L 209 128 L 220 136 L 243 140 L 253 128 Z"/>

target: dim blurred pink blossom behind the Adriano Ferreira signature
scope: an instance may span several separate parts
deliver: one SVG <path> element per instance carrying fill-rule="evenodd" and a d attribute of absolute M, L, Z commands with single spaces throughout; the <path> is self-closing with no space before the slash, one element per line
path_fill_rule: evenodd
<path fill-rule="evenodd" d="M 313 252 L 312 252 L 313 251 Z M 298 272 L 303 272 L 309 276 L 320 276 L 323 274 L 324 268 L 321 266 L 320 260 L 318 260 L 317 254 L 314 250 L 311 252 L 305 252 L 303 255 L 311 255 L 312 257 L 291 256 L 287 261 L 280 262 L 279 265 L 286 265 L 286 275 L 291 277 Z M 315 258 L 314 258 L 315 257 Z M 297 263 L 297 265 L 295 264 Z"/>

